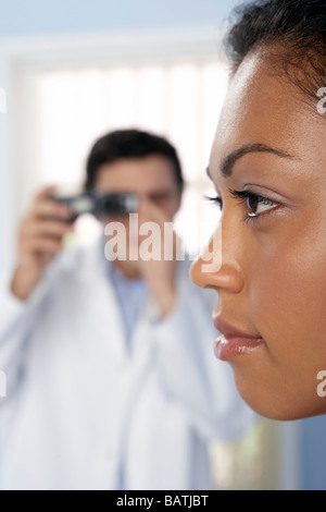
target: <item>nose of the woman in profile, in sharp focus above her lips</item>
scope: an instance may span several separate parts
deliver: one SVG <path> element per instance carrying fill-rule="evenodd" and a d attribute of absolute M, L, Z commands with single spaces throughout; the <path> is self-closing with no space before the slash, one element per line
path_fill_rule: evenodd
<path fill-rule="evenodd" d="M 244 278 L 236 257 L 234 236 L 223 236 L 222 223 L 213 234 L 208 247 L 193 261 L 190 278 L 200 288 L 240 293 Z"/>

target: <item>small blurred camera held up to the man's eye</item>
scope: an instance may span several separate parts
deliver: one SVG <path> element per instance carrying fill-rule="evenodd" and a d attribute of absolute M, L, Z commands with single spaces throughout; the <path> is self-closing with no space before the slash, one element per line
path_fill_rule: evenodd
<path fill-rule="evenodd" d="M 84 214 L 96 217 L 126 216 L 138 209 L 138 199 L 134 194 L 95 194 L 85 192 L 78 195 L 52 194 L 51 200 L 58 200 L 72 210 L 72 221 Z"/>

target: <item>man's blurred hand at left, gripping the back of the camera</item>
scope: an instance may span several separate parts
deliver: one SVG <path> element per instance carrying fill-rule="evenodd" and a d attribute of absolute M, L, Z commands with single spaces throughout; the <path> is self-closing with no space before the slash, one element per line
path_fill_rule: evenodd
<path fill-rule="evenodd" d="M 49 199 L 54 191 L 54 186 L 48 186 L 35 197 L 20 228 L 17 264 L 11 290 L 22 301 L 28 298 L 45 268 L 62 251 L 63 236 L 73 229 L 67 222 L 72 217 L 70 209 Z"/>

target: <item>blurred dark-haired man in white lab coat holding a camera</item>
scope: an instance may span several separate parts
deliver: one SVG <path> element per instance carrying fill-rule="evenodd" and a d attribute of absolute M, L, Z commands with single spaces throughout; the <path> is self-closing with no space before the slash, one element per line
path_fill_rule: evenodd
<path fill-rule="evenodd" d="M 139 225 L 161 233 L 183 183 L 171 144 L 139 131 L 102 137 L 87 163 L 88 191 L 136 195 Z M 49 199 L 53 191 L 22 222 L 1 288 L 3 487 L 211 488 L 209 441 L 240 436 L 253 417 L 213 357 L 206 292 L 177 261 L 175 235 L 173 257 L 158 260 L 128 247 L 110 261 L 103 237 L 63 251 L 71 211 Z M 125 217 L 103 222 L 117 220 L 128 233 Z"/>

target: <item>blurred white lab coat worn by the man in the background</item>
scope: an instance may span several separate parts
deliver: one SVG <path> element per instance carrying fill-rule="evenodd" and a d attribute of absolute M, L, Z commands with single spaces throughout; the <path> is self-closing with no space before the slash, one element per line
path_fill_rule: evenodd
<path fill-rule="evenodd" d="M 254 414 L 214 358 L 216 301 L 178 270 L 178 304 L 142 309 L 129 352 L 103 251 L 67 249 L 27 303 L 0 290 L 4 489 L 211 488 L 208 442 Z M 9 273 L 7 275 L 9 277 Z"/>

